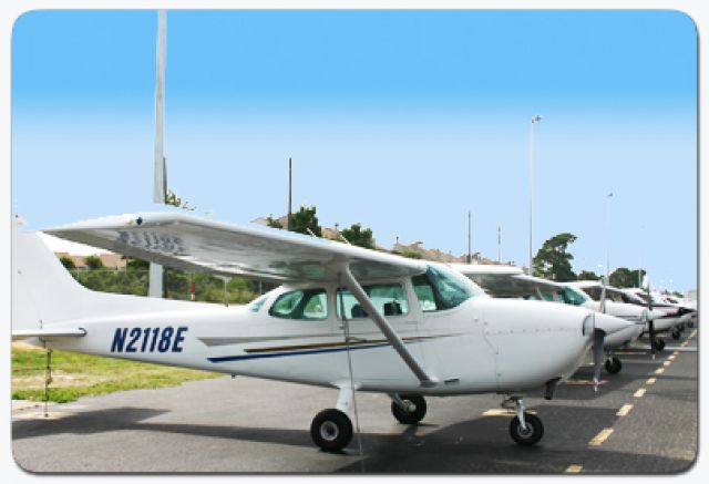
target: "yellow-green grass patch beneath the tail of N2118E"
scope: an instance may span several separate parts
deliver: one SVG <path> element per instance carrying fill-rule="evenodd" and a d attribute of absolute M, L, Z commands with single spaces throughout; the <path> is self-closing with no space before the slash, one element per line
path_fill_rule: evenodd
<path fill-rule="evenodd" d="M 12 399 L 44 401 L 45 351 L 12 344 Z M 124 390 L 177 387 L 193 380 L 223 377 L 201 370 L 142 363 L 89 354 L 52 352 L 49 400 L 64 403 Z"/>

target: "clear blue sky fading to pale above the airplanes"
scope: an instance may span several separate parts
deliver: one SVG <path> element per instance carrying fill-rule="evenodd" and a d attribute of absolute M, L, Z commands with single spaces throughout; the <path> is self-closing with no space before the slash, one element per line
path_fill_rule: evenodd
<path fill-rule="evenodd" d="M 32 228 L 152 210 L 154 11 L 37 11 L 12 38 L 12 205 Z M 697 287 L 697 33 L 672 11 L 171 11 L 169 187 L 247 223 L 314 204 L 382 246 Z"/>

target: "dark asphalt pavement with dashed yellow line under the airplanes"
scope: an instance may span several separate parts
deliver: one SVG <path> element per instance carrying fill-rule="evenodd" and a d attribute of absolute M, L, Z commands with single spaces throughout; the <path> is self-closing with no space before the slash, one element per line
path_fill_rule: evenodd
<path fill-rule="evenodd" d="M 408 426 L 388 397 L 358 393 L 360 432 L 326 453 L 309 428 L 335 390 L 227 377 L 52 404 L 49 418 L 16 402 L 12 450 L 32 473 L 681 473 L 698 449 L 696 330 L 655 359 L 644 343 L 619 352 L 597 393 L 586 365 L 553 401 L 527 398 L 545 425 L 534 447 L 511 440 L 502 395 L 430 398 Z"/>

